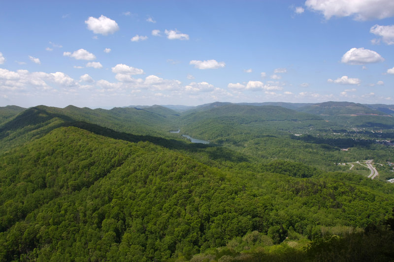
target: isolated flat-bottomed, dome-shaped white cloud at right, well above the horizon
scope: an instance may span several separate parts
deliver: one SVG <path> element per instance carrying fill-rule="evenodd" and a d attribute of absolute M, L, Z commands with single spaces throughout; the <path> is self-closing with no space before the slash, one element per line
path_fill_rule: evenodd
<path fill-rule="evenodd" d="M 341 62 L 349 64 L 366 64 L 383 62 L 384 60 L 385 59 L 382 58 L 375 51 L 364 49 L 361 47 L 350 49 L 342 56 Z"/>

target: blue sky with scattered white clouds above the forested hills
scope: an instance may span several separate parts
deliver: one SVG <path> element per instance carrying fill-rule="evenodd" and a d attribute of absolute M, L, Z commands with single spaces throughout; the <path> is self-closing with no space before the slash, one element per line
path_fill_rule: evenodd
<path fill-rule="evenodd" d="M 394 104 L 393 0 L 0 4 L 0 106 Z"/>

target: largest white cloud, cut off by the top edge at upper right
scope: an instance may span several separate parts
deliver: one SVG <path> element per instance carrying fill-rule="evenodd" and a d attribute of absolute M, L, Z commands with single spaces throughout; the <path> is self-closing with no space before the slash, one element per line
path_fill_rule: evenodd
<path fill-rule="evenodd" d="M 326 19 L 351 16 L 363 21 L 394 16 L 393 0 L 306 0 L 305 5 Z"/>

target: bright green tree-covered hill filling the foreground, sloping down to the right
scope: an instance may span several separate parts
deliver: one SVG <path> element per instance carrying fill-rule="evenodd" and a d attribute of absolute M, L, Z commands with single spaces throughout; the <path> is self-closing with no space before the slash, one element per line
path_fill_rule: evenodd
<path fill-rule="evenodd" d="M 255 231 L 270 245 L 343 234 L 394 206 L 391 185 L 361 176 L 227 162 L 56 128 L 0 156 L 0 260 L 184 261 Z"/>

